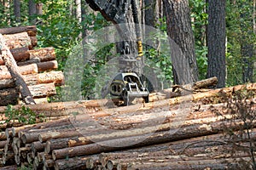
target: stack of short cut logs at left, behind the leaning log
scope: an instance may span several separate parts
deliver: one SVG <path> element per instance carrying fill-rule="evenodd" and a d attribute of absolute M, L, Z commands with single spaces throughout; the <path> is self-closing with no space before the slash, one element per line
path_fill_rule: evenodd
<path fill-rule="evenodd" d="M 37 29 L 35 26 L 0 29 L 5 44 L 13 55 L 17 70 L 25 80 L 33 99 L 38 103 L 47 102 L 47 97 L 55 95 L 55 86 L 64 80 L 55 60 L 54 48 L 38 48 Z M 16 105 L 20 99 L 20 89 L 15 78 L 0 57 L 0 105 Z"/>

